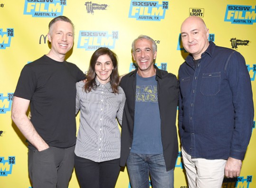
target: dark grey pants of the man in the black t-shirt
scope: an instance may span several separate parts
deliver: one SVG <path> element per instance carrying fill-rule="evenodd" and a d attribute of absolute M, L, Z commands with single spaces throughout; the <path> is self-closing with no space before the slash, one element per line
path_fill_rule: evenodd
<path fill-rule="evenodd" d="M 28 150 L 28 172 L 33 188 L 67 188 L 74 169 L 75 146 Z"/>

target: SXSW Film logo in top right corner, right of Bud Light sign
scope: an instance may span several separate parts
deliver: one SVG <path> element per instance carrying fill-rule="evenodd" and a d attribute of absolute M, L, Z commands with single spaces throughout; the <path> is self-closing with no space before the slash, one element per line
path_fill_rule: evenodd
<path fill-rule="evenodd" d="M 247 5 L 227 5 L 224 21 L 231 24 L 252 25 L 256 22 L 256 6 Z"/>

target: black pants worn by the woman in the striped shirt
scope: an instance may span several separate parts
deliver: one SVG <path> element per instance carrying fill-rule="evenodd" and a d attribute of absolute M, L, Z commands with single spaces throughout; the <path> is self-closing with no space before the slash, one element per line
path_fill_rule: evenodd
<path fill-rule="evenodd" d="M 95 162 L 75 155 L 75 170 L 80 188 L 114 188 L 120 172 L 120 159 Z"/>

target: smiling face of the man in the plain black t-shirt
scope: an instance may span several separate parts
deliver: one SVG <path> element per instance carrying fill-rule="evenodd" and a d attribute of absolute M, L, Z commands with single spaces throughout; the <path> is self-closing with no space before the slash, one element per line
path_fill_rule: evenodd
<path fill-rule="evenodd" d="M 57 21 L 52 25 L 51 33 L 48 34 L 51 42 L 51 52 L 57 56 L 66 55 L 74 43 L 74 31 L 70 23 Z"/>

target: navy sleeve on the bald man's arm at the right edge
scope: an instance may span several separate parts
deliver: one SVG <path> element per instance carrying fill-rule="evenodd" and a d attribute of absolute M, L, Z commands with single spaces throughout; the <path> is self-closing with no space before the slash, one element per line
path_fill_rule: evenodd
<path fill-rule="evenodd" d="M 230 157 L 243 160 L 251 138 L 254 118 L 251 80 L 241 54 L 235 51 L 230 54 L 226 67 L 235 112 Z"/>

